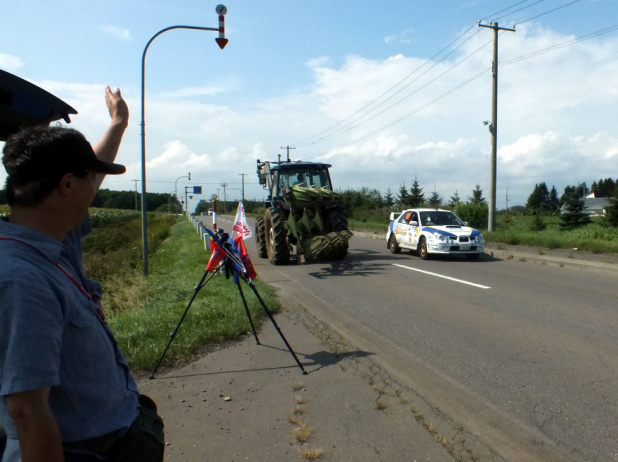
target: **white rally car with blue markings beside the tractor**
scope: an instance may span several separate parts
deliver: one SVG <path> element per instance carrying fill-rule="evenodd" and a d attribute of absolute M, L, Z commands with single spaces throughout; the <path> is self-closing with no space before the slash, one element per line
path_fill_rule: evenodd
<path fill-rule="evenodd" d="M 480 231 L 448 210 L 410 209 L 399 217 L 391 213 L 386 243 L 392 253 L 401 249 L 415 251 L 423 260 L 432 254 L 466 255 L 477 259 L 485 252 L 485 240 Z"/>

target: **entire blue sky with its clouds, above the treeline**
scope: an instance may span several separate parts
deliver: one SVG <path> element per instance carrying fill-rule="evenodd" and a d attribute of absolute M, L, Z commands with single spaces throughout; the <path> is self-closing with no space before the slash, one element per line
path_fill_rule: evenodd
<path fill-rule="evenodd" d="M 336 188 L 489 194 L 493 32 L 499 36 L 497 206 L 542 181 L 618 178 L 618 0 L 230 0 L 226 36 L 173 30 L 146 58 L 147 189 L 261 199 L 256 159 L 333 164 Z M 0 68 L 62 98 L 96 140 L 104 86 L 131 122 L 118 161 L 141 178 L 141 58 L 174 25 L 218 27 L 217 2 L 0 0 Z M 4 181 L 4 172 L 0 173 Z M 197 199 L 198 197 L 196 197 Z M 190 205 L 192 207 L 193 205 Z"/>

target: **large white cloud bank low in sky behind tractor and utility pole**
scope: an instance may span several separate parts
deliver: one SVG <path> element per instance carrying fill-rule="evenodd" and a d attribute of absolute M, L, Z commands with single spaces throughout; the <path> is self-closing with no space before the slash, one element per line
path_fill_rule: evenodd
<path fill-rule="evenodd" d="M 501 63 L 572 38 L 525 26 L 501 36 Z M 149 94 L 149 190 L 172 191 L 174 180 L 190 171 L 191 183 L 209 185 L 204 191 L 209 196 L 223 182 L 240 188 L 244 173 L 246 196 L 261 198 L 256 159 L 277 160 L 277 154 L 285 155 L 281 146 L 296 143 L 293 159 L 333 164 L 336 188 L 366 186 L 382 193 L 390 188 L 396 194 L 416 176 L 427 194 L 435 189 L 448 199 L 457 191 L 466 198 L 479 183 L 487 196 L 490 134 L 482 121 L 491 118 L 492 37 L 482 32 L 458 50 L 458 58 L 439 63 L 354 55 L 335 67 L 318 57 L 306 63 L 312 85 L 243 101 L 242 107 L 188 98 L 216 95 L 223 87 Z M 607 35 L 501 64 L 498 207 L 505 205 L 507 188 L 514 205 L 524 204 L 543 181 L 562 193 L 568 184 L 618 178 L 617 50 L 618 38 Z M 107 123 L 103 85 L 44 84 L 80 111 L 77 128 L 90 139 L 100 136 Z M 119 160 L 128 173 L 106 183 L 118 189 L 131 189 L 140 171 L 139 99 L 125 97 L 133 117 Z"/>

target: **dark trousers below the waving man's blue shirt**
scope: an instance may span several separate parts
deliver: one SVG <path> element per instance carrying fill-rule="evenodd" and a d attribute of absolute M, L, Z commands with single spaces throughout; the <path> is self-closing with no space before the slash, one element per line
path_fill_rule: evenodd
<path fill-rule="evenodd" d="M 124 436 L 107 435 L 65 444 L 65 462 L 161 462 L 165 447 L 163 420 L 149 397 L 141 395 L 140 404 L 140 413 Z"/>

